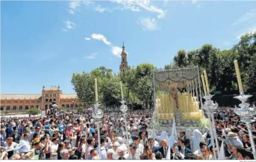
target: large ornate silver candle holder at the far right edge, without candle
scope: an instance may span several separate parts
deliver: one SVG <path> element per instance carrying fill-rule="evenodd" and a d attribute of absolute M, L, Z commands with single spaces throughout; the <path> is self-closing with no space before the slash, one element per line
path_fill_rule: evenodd
<path fill-rule="evenodd" d="M 255 150 L 255 143 L 253 139 L 253 134 L 252 134 L 252 128 L 251 128 L 251 118 L 256 115 L 256 107 L 253 105 L 253 107 L 250 107 L 250 104 L 247 103 L 247 99 L 252 97 L 253 95 L 245 95 L 243 92 L 240 92 L 240 95 L 235 96 L 234 98 L 239 99 L 242 103 L 239 104 L 240 108 L 237 108 L 235 106 L 234 108 L 234 113 L 238 116 L 241 116 L 243 122 L 246 123 L 248 133 L 249 133 L 249 138 L 254 154 L 254 159 L 256 159 L 256 150 Z"/>

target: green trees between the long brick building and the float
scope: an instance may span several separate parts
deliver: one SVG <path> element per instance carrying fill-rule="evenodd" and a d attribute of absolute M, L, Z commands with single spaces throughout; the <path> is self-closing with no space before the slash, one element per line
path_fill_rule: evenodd
<path fill-rule="evenodd" d="M 105 107 L 115 107 L 121 101 L 122 82 L 124 99 L 127 103 L 141 103 L 144 107 L 153 106 L 153 70 L 152 64 L 140 64 L 136 68 L 126 68 L 118 74 L 112 69 L 99 67 L 91 72 L 73 73 L 71 83 L 82 102 L 95 103 L 94 79 L 97 79 L 98 100 Z"/>

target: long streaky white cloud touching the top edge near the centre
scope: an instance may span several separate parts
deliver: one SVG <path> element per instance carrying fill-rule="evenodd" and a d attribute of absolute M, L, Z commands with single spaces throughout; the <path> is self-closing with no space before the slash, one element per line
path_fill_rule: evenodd
<path fill-rule="evenodd" d="M 112 0 L 118 4 L 121 4 L 124 9 L 139 12 L 140 8 L 143 8 L 152 13 L 158 13 L 158 19 L 162 19 L 166 15 L 166 10 L 163 10 L 157 6 L 151 5 L 150 0 Z M 121 9 L 123 9 L 121 8 Z"/>

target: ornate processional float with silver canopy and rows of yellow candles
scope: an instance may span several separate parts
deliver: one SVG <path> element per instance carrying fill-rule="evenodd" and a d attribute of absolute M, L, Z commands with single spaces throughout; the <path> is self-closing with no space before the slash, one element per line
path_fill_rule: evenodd
<path fill-rule="evenodd" d="M 157 134 L 162 131 L 170 134 L 174 117 L 176 129 L 185 131 L 188 137 L 195 129 L 205 132 L 201 122 L 204 114 L 200 108 L 202 83 L 197 66 L 155 70 L 153 83 L 153 126 Z"/>

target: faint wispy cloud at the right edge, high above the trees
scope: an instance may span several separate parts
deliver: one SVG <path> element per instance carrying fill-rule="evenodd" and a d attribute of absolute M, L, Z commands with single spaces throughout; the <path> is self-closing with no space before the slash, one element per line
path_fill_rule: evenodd
<path fill-rule="evenodd" d="M 256 9 L 251 9 L 243 16 L 241 16 L 236 22 L 232 24 L 232 26 L 239 25 L 239 24 L 248 24 L 248 23 L 255 23 L 256 22 Z"/>

